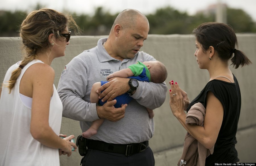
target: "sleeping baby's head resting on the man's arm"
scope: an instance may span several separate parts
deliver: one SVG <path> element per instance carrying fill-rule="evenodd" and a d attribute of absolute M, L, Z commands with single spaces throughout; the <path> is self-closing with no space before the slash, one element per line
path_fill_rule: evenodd
<path fill-rule="evenodd" d="M 143 64 L 150 72 L 150 81 L 153 83 L 162 83 L 167 78 L 167 70 L 164 64 L 158 60 L 145 61 Z"/>

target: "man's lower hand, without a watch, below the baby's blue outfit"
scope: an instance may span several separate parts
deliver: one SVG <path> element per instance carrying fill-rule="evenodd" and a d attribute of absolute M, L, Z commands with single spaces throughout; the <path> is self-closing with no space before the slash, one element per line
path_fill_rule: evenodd
<path fill-rule="evenodd" d="M 122 104 L 121 108 L 115 108 L 116 100 L 106 102 L 103 106 L 97 106 L 99 118 L 105 118 L 109 121 L 116 122 L 124 117 L 127 104 Z"/>

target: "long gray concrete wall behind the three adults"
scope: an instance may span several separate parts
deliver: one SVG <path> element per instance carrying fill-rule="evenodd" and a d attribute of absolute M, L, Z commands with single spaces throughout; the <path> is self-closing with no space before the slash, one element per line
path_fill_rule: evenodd
<path fill-rule="evenodd" d="M 67 46 L 66 55 L 52 62 L 55 70 L 55 86 L 57 87 L 60 74 L 65 65 L 80 52 L 97 45 L 103 36 L 72 36 Z M 106 36 L 104 36 L 106 37 Z M 256 162 L 256 34 L 237 34 L 239 49 L 245 52 L 253 62 L 250 66 L 233 69 L 241 89 L 242 106 L 237 133 L 238 157 L 240 162 Z M 20 53 L 21 39 L 18 37 L 0 37 L 0 82 L 3 81 L 7 69 L 22 59 Z M 200 70 L 194 56 L 195 37 L 193 35 L 148 35 L 141 49 L 157 60 L 163 62 L 168 70 L 166 83 L 177 81 L 179 86 L 188 93 L 192 100 L 208 82 L 207 70 Z M 170 85 L 168 84 L 168 89 Z M 169 107 L 169 94 L 164 104 L 155 111 L 155 133 L 150 140 L 150 147 L 155 156 L 156 166 L 177 165 L 182 154 L 185 129 L 172 115 Z M 61 133 L 78 136 L 81 129 L 78 121 L 62 118 Z M 78 152 L 70 157 L 60 156 L 62 166 L 80 165 Z"/>

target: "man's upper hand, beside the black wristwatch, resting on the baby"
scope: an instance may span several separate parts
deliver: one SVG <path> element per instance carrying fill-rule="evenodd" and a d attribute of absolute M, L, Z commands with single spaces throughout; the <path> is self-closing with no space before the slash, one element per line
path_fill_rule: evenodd
<path fill-rule="evenodd" d="M 128 82 L 129 82 L 129 78 L 120 78 L 120 77 L 111 78 L 111 79 L 109 79 L 109 82 L 102 85 L 96 91 L 96 93 L 99 94 L 99 99 L 104 97 L 104 98 L 102 98 L 102 102 L 104 102 L 106 100 L 111 101 L 116 96 L 125 94 L 130 89 Z M 101 91 L 103 91 L 103 92 L 101 93 Z"/>

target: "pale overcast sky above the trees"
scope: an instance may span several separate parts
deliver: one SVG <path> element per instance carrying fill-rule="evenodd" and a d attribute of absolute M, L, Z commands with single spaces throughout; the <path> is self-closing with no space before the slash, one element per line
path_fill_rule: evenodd
<path fill-rule="evenodd" d="M 63 11 L 63 9 L 78 14 L 93 14 L 94 9 L 102 6 L 113 13 L 124 9 L 137 9 L 144 14 L 154 13 L 156 9 L 171 6 L 181 12 L 195 14 L 208 5 L 226 3 L 228 7 L 243 9 L 256 21 L 256 0 L 0 0 L 0 10 L 33 10 L 36 4 L 43 7 Z"/>

